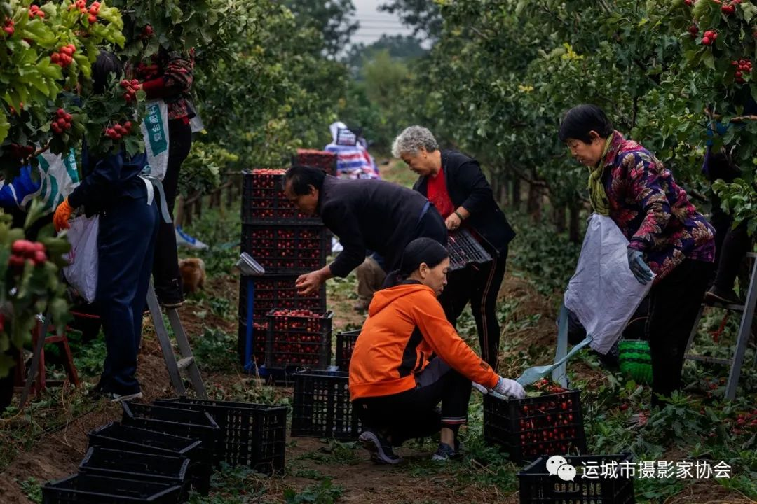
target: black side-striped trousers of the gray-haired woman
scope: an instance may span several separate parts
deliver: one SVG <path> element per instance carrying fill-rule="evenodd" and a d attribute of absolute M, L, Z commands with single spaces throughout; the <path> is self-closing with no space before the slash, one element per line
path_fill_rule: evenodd
<path fill-rule="evenodd" d="M 478 331 L 481 358 L 497 370 L 500 355 L 500 321 L 497 320 L 497 295 L 505 277 L 507 249 L 488 264 L 470 265 L 447 275 L 447 286 L 439 297 L 447 320 L 454 326 L 470 301 Z"/>

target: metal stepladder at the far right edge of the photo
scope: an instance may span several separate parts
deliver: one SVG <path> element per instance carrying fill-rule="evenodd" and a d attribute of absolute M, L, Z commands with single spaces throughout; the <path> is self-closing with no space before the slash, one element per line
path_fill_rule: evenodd
<path fill-rule="evenodd" d="M 749 252 L 748 254 L 746 254 L 746 257 L 754 259 L 755 257 L 757 257 L 757 254 Z M 752 264 L 752 274 L 749 279 L 749 291 L 746 294 L 746 301 L 744 302 L 744 304 L 705 305 L 704 303 L 702 303 L 702 306 L 699 307 L 699 313 L 696 314 L 696 320 L 694 322 L 693 328 L 691 329 L 689 341 L 686 345 L 684 359 L 731 366 L 731 372 L 728 375 L 728 382 L 725 386 L 725 398 L 727 400 L 734 400 L 734 398 L 736 397 L 736 388 L 739 385 L 741 368 L 744 363 L 744 355 L 746 354 L 746 347 L 747 345 L 749 345 L 749 336 L 752 335 L 752 319 L 755 316 L 755 305 L 757 305 L 757 261 L 754 261 L 754 264 Z M 730 359 L 708 357 L 706 355 L 693 355 L 689 353 L 691 345 L 694 342 L 694 338 L 696 337 L 697 329 L 699 328 L 699 321 L 702 319 L 702 312 L 704 311 L 706 306 L 741 312 L 741 323 L 736 339 L 736 350 L 734 351 L 734 356 Z M 755 352 L 755 360 L 752 365 L 757 366 L 757 352 Z"/>

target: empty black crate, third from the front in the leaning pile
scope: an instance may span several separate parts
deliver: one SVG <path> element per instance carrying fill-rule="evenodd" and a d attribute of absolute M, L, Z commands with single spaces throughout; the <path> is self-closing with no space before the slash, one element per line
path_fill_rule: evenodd
<path fill-rule="evenodd" d="M 118 422 L 95 428 L 87 434 L 87 437 L 89 448 L 104 447 L 111 450 L 186 457 L 190 460 L 188 479 L 192 486 L 203 495 L 207 495 L 210 490 L 213 454 L 202 446 L 202 441 L 165 432 L 129 427 Z"/>

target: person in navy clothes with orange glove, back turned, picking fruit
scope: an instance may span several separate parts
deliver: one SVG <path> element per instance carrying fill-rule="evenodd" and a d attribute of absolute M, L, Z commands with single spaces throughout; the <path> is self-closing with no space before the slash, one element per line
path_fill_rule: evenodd
<path fill-rule="evenodd" d="M 104 92 L 111 74 L 120 77 L 122 73 L 120 61 L 101 52 L 92 66 L 94 92 Z M 99 215 L 95 304 L 107 356 L 96 391 L 116 402 L 142 397 L 136 378 L 137 355 L 158 224 L 151 183 L 139 176 L 146 163 L 145 153 L 129 157 L 124 150 L 96 158 L 85 143 L 83 181 L 58 206 L 53 219 L 61 230 L 68 227 L 74 209 Z"/>

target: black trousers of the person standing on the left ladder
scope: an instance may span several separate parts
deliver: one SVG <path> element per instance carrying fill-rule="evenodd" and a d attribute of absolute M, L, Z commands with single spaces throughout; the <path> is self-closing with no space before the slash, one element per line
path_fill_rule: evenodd
<path fill-rule="evenodd" d="M 183 119 L 170 119 L 168 122 L 168 167 L 163 179 L 168 212 L 173 220 L 173 205 L 176 203 L 176 188 L 179 185 L 179 172 L 182 162 L 192 147 L 192 126 Z M 155 195 L 157 197 L 157 193 Z M 155 258 L 152 274 L 155 294 L 161 302 L 173 303 L 182 300 L 182 284 L 179 275 L 179 254 L 176 252 L 176 233 L 173 222 L 160 220 L 155 243 Z"/>

